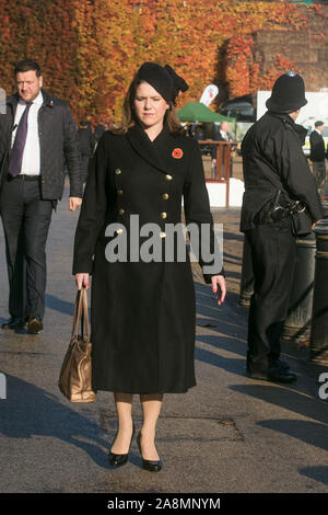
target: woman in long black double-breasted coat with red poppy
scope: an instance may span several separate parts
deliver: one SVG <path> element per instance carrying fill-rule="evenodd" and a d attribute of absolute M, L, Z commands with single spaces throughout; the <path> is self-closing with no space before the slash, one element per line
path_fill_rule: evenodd
<path fill-rule="evenodd" d="M 133 393 L 142 404 L 143 467 L 157 471 L 154 438 L 163 393 L 196 385 L 192 274 L 188 254 L 180 259 L 179 236 L 172 239 L 169 232 L 180 224 L 183 197 L 187 224 L 203 230 L 199 241 L 211 252 L 208 259 L 199 252 L 204 278 L 219 305 L 225 296 L 198 144 L 174 111 L 187 88 L 167 65 L 141 66 L 121 128 L 98 142 L 77 227 L 73 274 L 79 289 L 93 274 L 93 387 L 115 396 L 118 431 L 109 464 L 116 467 L 127 462 L 134 433 Z"/>

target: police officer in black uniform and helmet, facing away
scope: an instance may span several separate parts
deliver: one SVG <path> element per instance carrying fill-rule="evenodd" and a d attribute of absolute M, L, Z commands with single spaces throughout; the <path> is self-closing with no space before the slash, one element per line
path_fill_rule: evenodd
<path fill-rule="evenodd" d="M 293 219 L 297 219 L 300 202 L 308 215 L 308 231 L 323 216 L 316 182 L 302 152 L 306 129 L 295 124 L 306 103 L 302 77 L 293 71 L 282 75 L 266 103 L 267 113 L 242 142 L 245 193 L 241 230 L 251 249 L 255 276 L 247 370 L 254 379 L 276 382 L 296 380 L 280 359 L 295 263 Z"/>

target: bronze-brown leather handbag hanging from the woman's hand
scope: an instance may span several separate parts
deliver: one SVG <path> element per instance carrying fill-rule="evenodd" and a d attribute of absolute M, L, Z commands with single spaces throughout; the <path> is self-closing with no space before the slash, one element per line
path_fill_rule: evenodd
<path fill-rule="evenodd" d="M 79 325 L 81 323 L 81 334 Z M 86 289 L 78 290 L 71 341 L 61 366 L 58 387 L 71 402 L 94 402 L 92 390 L 92 344 L 87 317 Z"/>

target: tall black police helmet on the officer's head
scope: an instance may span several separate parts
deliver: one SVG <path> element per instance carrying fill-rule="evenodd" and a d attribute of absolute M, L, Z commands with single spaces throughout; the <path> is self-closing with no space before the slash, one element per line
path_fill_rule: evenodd
<path fill-rule="evenodd" d="M 271 96 L 266 102 L 268 110 L 273 113 L 292 113 L 305 104 L 304 80 L 294 71 L 288 71 L 277 79 Z"/>

